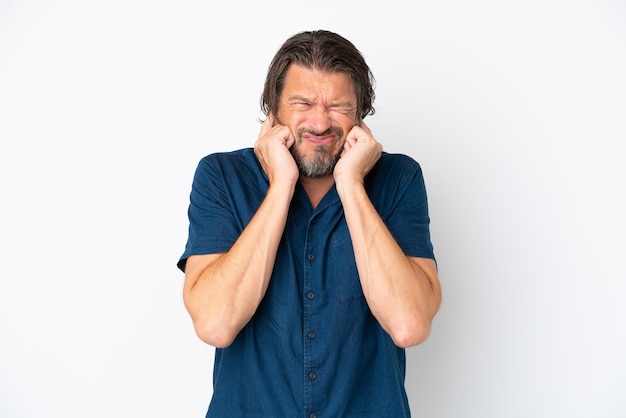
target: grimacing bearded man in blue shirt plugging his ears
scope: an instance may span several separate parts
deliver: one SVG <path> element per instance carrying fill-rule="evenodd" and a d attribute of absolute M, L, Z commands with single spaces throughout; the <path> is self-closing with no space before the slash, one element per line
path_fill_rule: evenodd
<path fill-rule="evenodd" d="M 203 158 L 178 266 L 216 347 L 207 417 L 406 417 L 405 347 L 441 290 L 420 166 L 363 119 L 373 76 L 328 31 L 274 57 L 254 149 Z"/>

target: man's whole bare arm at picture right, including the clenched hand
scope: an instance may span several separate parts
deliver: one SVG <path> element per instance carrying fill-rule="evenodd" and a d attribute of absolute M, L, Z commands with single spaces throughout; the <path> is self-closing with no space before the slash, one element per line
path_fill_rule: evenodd
<path fill-rule="evenodd" d="M 365 299 L 394 343 L 409 347 L 428 337 L 441 288 L 434 260 L 406 256 L 367 196 L 363 178 L 381 152 L 365 124 L 354 127 L 334 177 Z"/>

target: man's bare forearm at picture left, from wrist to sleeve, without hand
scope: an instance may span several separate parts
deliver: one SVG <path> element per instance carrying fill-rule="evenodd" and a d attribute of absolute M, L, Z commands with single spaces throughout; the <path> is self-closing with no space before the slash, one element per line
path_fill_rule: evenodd
<path fill-rule="evenodd" d="M 187 261 L 185 306 L 205 342 L 229 345 L 256 311 L 267 290 L 292 194 L 293 187 L 270 187 L 228 252 Z"/>

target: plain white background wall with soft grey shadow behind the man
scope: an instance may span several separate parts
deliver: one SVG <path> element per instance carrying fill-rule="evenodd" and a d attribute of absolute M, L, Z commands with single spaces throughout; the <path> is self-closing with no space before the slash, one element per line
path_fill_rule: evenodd
<path fill-rule="evenodd" d="M 425 172 L 444 303 L 414 416 L 626 416 L 623 1 L 0 0 L 0 417 L 204 416 L 192 174 L 254 143 L 273 54 L 317 28 Z"/>

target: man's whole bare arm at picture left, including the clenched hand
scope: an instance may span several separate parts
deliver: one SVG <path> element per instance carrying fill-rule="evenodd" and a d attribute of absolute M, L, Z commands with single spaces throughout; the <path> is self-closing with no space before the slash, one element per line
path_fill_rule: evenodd
<path fill-rule="evenodd" d="M 268 117 L 255 144 L 270 182 L 259 209 L 229 251 L 187 260 L 185 307 L 198 336 L 216 347 L 232 343 L 265 295 L 298 179 L 293 136 L 272 125 Z"/>

